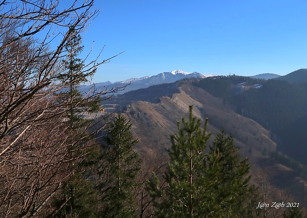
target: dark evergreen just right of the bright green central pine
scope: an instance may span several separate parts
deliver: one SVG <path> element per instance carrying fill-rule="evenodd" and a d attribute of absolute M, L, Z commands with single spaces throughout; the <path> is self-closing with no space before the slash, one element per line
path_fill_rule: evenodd
<path fill-rule="evenodd" d="M 217 133 L 210 146 L 208 164 L 211 156 L 218 156 L 218 182 L 214 187 L 218 189 L 218 202 L 223 210 L 223 217 L 241 218 L 249 211 L 249 202 L 255 197 L 254 186 L 248 184 L 250 164 L 248 159 L 241 161 L 239 148 L 234 145 L 232 135 L 226 136 L 224 130 Z M 216 164 L 216 163 L 215 163 Z"/>

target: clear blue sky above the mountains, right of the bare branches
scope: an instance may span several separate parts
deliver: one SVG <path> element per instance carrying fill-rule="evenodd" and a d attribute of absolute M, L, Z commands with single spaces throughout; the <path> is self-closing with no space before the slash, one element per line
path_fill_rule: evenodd
<path fill-rule="evenodd" d="M 181 69 L 216 75 L 307 68 L 306 0 L 96 0 L 85 51 L 105 45 L 94 82 Z"/>

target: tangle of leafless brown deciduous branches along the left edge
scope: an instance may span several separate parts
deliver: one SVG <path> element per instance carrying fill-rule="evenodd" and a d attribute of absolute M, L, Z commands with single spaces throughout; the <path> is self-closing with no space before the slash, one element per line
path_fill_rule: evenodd
<path fill-rule="evenodd" d="M 78 82 L 61 79 L 74 52 L 65 46 L 98 15 L 93 4 L 74 0 L 60 10 L 59 0 L 0 2 L 1 217 L 48 216 L 58 210 L 51 207 L 52 196 L 69 178 L 74 161 L 86 155 L 88 129 L 95 124 L 72 130 L 65 114 L 87 111 L 86 103 L 123 88 L 93 85 L 78 103 L 58 100 L 59 91 Z M 111 58 L 99 62 L 97 57 L 78 73 L 87 79 Z"/>

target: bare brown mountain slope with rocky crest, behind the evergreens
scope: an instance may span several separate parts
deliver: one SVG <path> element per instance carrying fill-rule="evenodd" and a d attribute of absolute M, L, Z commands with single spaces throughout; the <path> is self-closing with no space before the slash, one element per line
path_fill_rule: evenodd
<path fill-rule="evenodd" d="M 270 157 L 276 144 L 269 131 L 254 120 L 241 116 L 221 99 L 195 87 L 191 81 L 153 86 L 114 98 L 108 105 L 118 108 L 131 119 L 132 131 L 139 139 L 136 150 L 148 163 L 167 160 L 170 135 L 177 131 L 177 121 L 188 116 L 189 105 L 195 115 L 209 118 L 208 131 L 212 132 L 209 145 L 222 128 L 234 136 L 242 158 L 252 164 L 252 181 L 260 187 L 268 201 L 300 202 L 306 206 L 307 182 L 295 170 L 277 163 Z M 209 146 L 208 145 L 208 146 Z M 272 210 L 272 213 L 276 211 Z"/>

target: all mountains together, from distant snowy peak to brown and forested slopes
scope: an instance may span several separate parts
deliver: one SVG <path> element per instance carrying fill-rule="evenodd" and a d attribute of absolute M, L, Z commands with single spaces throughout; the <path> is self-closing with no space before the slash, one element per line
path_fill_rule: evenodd
<path fill-rule="evenodd" d="M 167 160 L 170 135 L 177 131 L 177 121 L 187 117 L 188 106 L 194 105 L 196 116 L 209 118 L 208 131 L 213 135 L 220 129 L 233 135 L 242 158 L 249 158 L 252 182 L 262 187 L 266 201 L 296 200 L 306 205 L 307 69 L 289 73 L 283 79 L 264 79 L 261 75 L 256 75 L 258 79 L 235 75 L 193 77 L 181 72 L 118 82 L 163 84 L 103 101 L 104 116 L 116 111 L 131 120 L 133 134 L 139 139 L 136 150 L 147 164 L 152 164 Z M 167 77 L 184 75 L 191 78 L 163 82 L 170 81 L 165 80 Z M 300 78 L 300 83 L 294 78 Z"/>

